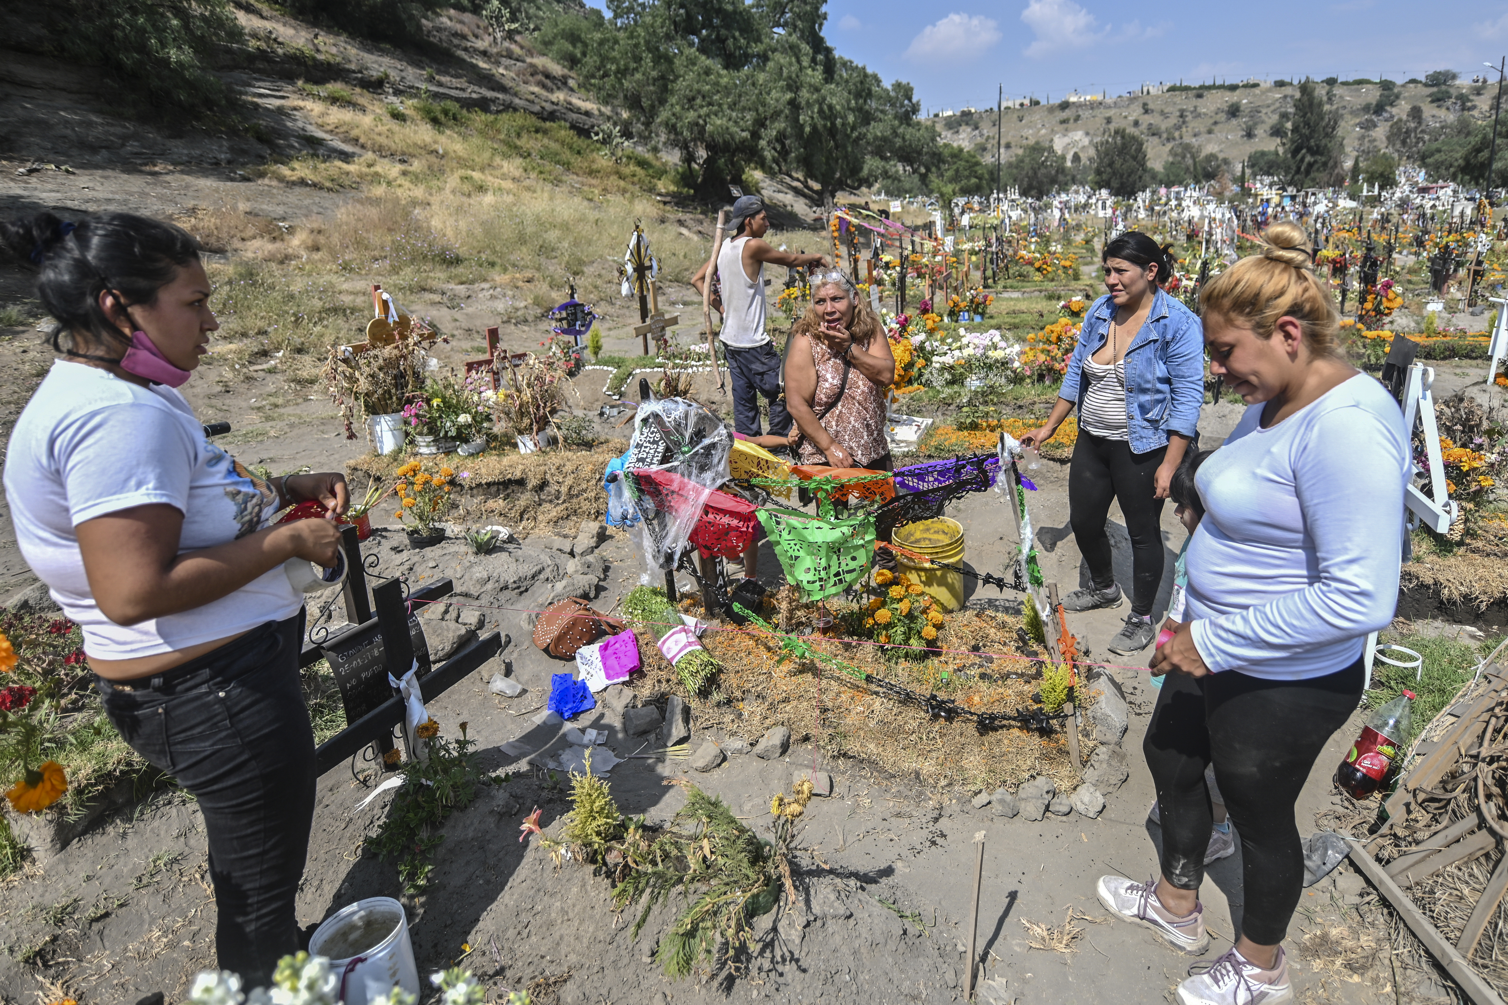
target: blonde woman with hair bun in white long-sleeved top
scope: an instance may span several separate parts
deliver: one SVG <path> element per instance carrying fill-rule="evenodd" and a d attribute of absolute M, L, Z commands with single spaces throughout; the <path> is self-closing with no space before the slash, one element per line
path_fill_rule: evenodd
<path fill-rule="evenodd" d="M 1235 945 L 1184 1005 L 1292 997 L 1282 940 L 1303 890 L 1294 805 L 1362 698 L 1362 648 L 1398 603 L 1408 434 L 1398 402 L 1336 348 L 1339 318 L 1292 223 L 1200 291 L 1209 371 L 1250 405 L 1199 469 L 1187 615 L 1152 657 L 1166 683 L 1142 750 L 1163 824 L 1161 878 L 1099 880 L 1116 916 L 1203 952 L 1199 886 L 1212 764 L 1241 838 Z"/>

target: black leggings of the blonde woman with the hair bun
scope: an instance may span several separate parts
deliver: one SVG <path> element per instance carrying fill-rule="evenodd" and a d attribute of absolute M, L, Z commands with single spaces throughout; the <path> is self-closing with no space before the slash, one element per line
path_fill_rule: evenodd
<path fill-rule="evenodd" d="M 1241 835 L 1241 931 L 1270 946 L 1283 940 L 1303 892 L 1304 856 L 1294 803 L 1326 741 L 1362 699 L 1357 660 L 1303 681 L 1268 681 L 1237 671 L 1193 678 L 1169 674 L 1142 752 L 1163 817 L 1163 875 L 1197 890 L 1212 826 L 1205 765 Z"/>

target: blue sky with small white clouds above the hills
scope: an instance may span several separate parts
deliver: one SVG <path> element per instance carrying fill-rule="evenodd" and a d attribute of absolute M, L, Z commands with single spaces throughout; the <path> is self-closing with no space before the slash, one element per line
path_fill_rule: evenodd
<path fill-rule="evenodd" d="M 887 83 L 909 80 L 927 111 L 992 105 L 997 84 L 1056 99 L 1072 89 L 1123 93 L 1143 80 L 1402 81 L 1445 66 L 1469 78 L 1508 51 L 1508 2 L 829 0 L 826 36 Z"/>

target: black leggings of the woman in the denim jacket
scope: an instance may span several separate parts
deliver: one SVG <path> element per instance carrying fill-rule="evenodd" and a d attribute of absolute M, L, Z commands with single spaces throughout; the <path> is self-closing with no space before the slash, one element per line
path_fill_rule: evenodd
<path fill-rule="evenodd" d="M 1131 535 L 1131 612 L 1143 616 L 1152 613 L 1163 582 L 1163 500 L 1152 496 L 1164 454 L 1166 446 L 1133 454 L 1125 440 L 1105 440 L 1080 429 L 1068 469 L 1068 523 L 1095 589 L 1110 589 L 1116 582 L 1105 518 L 1110 500 L 1120 503 Z"/>

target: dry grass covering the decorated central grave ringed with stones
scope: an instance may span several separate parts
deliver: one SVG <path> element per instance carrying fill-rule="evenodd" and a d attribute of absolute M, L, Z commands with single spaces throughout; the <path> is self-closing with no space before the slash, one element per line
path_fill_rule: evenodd
<path fill-rule="evenodd" d="M 838 606 L 829 607 L 838 612 Z M 814 610 L 814 604 L 796 606 L 796 616 L 784 622 L 784 630 L 808 634 Z M 835 639 L 816 645 L 923 695 L 935 692 L 977 711 L 1015 711 L 1034 708 L 1031 696 L 1038 689 L 1038 664 L 1019 655 L 1016 646 L 1019 624 L 1019 618 L 992 612 L 949 615 L 936 645 L 947 649 L 980 645 L 985 652 L 997 654 L 994 663 L 971 652 L 890 663 L 879 646 Z M 783 725 L 796 740 L 814 740 L 828 756 L 863 759 L 936 790 L 1015 788 L 1036 774 L 1051 776 L 1065 791 L 1078 784 L 1060 732 L 1042 735 L 1007 728 L 980 734 L 971 720 L 932 720 L 921 708 L 870 692 L 832 667 L 795 660 L 777 663 L 777 643 L 754 631 L 712 630 L 703 643 L 722 667 L 712 678 L 710 699 L 689 695 L 653 639 L 639 633 L 645 671 L 641 693 L 645 699 L 680 695 L 697 708 L 698 729 L 757 740 L 771 726 Z M 1084 747 L 1087 758 L 1093 747 L 1087 737 Z"/>

